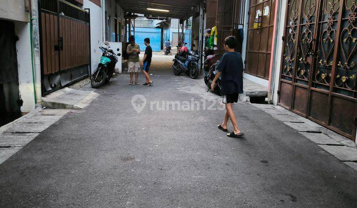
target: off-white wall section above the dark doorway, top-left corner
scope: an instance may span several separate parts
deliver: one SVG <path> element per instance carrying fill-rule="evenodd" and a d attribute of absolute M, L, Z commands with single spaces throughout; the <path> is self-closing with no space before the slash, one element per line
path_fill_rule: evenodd
<path fill-rule="evenodd" d="M 0 19 L 28 22 L 25 0 L 0 0 Z"/>

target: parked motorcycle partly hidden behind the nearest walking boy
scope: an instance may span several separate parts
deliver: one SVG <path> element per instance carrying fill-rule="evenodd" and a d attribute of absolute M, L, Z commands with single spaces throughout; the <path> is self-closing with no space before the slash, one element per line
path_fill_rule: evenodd
<path fill-rule="evenodd" d="M 217 65 L 219 63 L 218 60 L 219 55 L 220 55 L 219 53 L 213 55 L 207 55 L 206 60 L 203 63 L 203 71 L 205 73 L 204 82 L 208 87 L 208 90 L 211 89 L 211 84 L 218 72 Z M 221 95 L 221 77 L 218 78 L 216 86 L 214 87 L 213 90 L 216 91 L 218 95 Z"/>

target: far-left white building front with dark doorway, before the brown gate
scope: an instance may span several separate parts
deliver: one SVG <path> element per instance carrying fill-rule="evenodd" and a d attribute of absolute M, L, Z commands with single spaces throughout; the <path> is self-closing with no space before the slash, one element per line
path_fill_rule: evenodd
<path fill-rule="evenodd" d="M 34 109 L 36 101 L 29 1 L 1 0 L 0 10 L 1 125 Z"/>

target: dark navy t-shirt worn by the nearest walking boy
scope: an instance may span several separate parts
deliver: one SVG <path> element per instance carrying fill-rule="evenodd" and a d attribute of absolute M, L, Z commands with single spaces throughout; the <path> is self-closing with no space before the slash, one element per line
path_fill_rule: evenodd
<path fill-rule="evenodd" d="M 238 52 L 226 52 L 221 57 L 217 70 L 221 75 L 222 95 L 243 93 L 243 60 Z"/>

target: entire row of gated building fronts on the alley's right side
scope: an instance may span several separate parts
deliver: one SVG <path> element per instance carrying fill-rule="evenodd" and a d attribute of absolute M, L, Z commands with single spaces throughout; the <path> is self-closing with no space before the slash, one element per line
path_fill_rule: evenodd
<path fill-rule="evenodd" d="M 218 50 L 243 30 L 244 77 L 269 102 L 356 141 L 356 1 L 207 0 L 205 11 Z"/>

